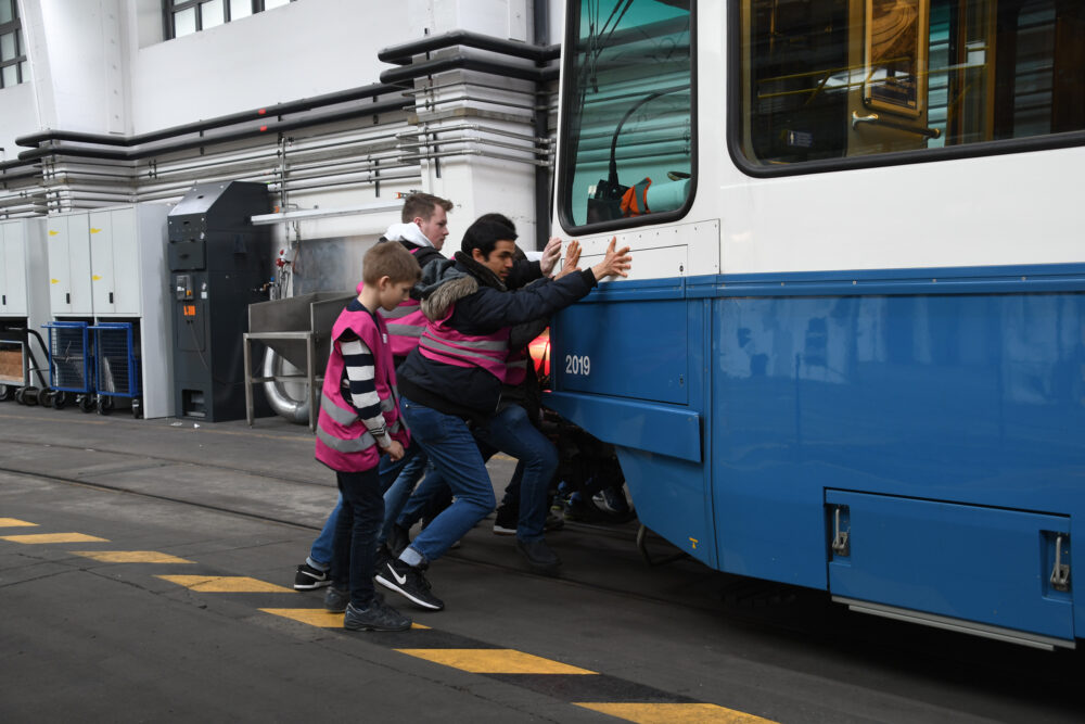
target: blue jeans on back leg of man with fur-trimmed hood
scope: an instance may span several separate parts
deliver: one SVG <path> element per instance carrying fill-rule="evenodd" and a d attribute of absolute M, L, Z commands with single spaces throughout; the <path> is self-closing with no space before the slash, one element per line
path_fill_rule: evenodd
<path fill-rule="evenodd" d="M 426 561 L 434 561 L 494 510 L 494 486 L 463 420 L 407 397 L 400 398 L 400 409 L 414 440 L 456 496 L 410 544 Z"/>

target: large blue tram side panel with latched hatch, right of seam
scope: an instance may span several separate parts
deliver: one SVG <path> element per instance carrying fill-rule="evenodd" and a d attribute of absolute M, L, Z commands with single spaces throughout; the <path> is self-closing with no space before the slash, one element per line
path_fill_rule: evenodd
<path fill-rule="evenodd" d="M 1073 638 L 1085 297 L 1014 283 L 717 299 L 720 568 Z"/>

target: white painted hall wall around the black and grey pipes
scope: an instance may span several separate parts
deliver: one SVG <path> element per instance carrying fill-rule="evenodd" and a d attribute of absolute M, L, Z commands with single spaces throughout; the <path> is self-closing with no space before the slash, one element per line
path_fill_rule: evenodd
<path fill-rule="evenodd" d="M 379 61 L 378 52 L 426 35 L 463 29 L 533 41 L 533 0 L 297 0 L 171 40 L 163 40 L 163 0 L 18 1 L 33 81 L 0 90 L 2 100 L 16 99 L 0 103 L 0 144 L 8 161 L 25 150 L 14 144 L 14 138 L 44 129 L 145 134 L 379 82 L 380 74 L 394 66 Z M 551 12 L 550 41 L 560 42 L 561 0 L 539 1 L 547 2 Z M 528 86 L 493 76 L 478 78 L 493 85 Z M 462 74 L 441 76 L 436 82 L 456 79 Z M 515 98 L 518 103 L 529 100 L 531 96 Z M 409 103 L 405 96 L 404 104 Z M 503 111 L 499 104 L 486 109 Z M 461 120 L 419 111 L 421 117 L 399 125 L 398 131 L 439 129 Z M 501 120 L 484 122 L 533 132 L 529 110 L 510 110 Z M 368 119 L 358 120 L 358 128 L 369 125 Z M 301 140 L 310 132 L 303 129 L 296 136 Z M 512 217 L 531 247 L 534 186 L 529 164 L 468 155 L 422 161 L 421 179 L 382 183 L 380 200 L 413 189 L 450 198 L 457 207 L 449 251 L 459 246 L 462 231 L 475 216 L 494 211 Z M 302 208 L 375 200 L 375 187 L 365 185 L 290 199 L 292 206 Z M 396 217 L 390 212 L 306 221 L 296 230 L 279 227 L 275 237 L 277 243 L 337 236 L 375 239 Z"/>

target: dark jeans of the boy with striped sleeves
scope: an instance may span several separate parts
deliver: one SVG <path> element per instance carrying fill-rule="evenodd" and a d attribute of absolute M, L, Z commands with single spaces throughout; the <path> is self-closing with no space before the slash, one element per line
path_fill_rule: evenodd
<path fill-rule="evenodd" d="M 384 521 L 381 474 L 376 468 L 363 472 L 335 472 L 343 504 L 335 520 L 332 546 L 332 585 L 350 592 L 355 608 L 373 602 L 373 567 L 376 536 Z"/>

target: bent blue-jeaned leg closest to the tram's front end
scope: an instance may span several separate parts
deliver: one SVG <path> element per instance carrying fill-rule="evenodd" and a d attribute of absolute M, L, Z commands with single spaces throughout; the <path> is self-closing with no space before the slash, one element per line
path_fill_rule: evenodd
<path fill-rule="evenodd" d="M 541 541 L 547 494 L 550 481 L 558 472 L 558 450 L 553 443 L 532 424 L 527 411 L 520 405 L 509 405 L 500 410 L 475 430 L 475 436 L 523 465 L 516 537 L 521 541 Z"/>

